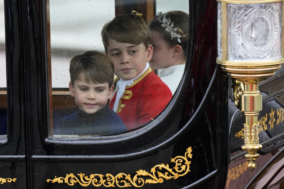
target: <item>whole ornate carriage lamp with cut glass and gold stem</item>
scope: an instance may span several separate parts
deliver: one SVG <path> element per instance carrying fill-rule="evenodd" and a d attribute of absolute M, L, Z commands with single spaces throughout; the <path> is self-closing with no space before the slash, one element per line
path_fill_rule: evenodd
<path fill-rule="evenodd" d="M 259 143 L 258 115 L 262 110 L 259 82 L 284 63 L 284 0 L 217 0 L 217 64 L 241 83 L 235 101 L 246 117 L 242 150 L 253 170 Z M 240 103 L 240 104 L 238 104 Z"/>

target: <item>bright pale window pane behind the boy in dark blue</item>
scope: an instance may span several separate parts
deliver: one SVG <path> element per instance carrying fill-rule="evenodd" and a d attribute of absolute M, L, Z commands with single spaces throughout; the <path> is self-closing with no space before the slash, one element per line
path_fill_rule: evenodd
<path fill-rule="evenodd" d="M 114 17 L 114 0 L 49 0 L 49 6 L 52 86 L 66 88 L 71 57 L 88 50 L 105 52 L 101 30 Z"/>

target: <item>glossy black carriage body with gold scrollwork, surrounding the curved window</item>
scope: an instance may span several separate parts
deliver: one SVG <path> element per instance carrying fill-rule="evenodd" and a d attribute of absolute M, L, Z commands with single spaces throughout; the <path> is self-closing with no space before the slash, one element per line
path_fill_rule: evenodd
<path fill-rule="evenodd" d="M 240 151 L 243 140 L 235 137 L 244 119 L 232 105 L 228 91 L 231 79 L 215 62 L 216 1 L 190 0 L 189 9 L 191 35 L 185 74 L 171 103 L 157 120 L 131 135 L 54 139 L 48 135 L 46 2 L 5 0 L 8 135 L 0 144 L 0 178 L 6 179 L 0 187 L 237 186 L 233 183 L 237 180 L 228 183 L 227 176 L 233 174 L 234 166 L 246 161 Z M 283 75 L 275 80 L 283 82 Z M 265 92 L 268 106 L 264 106 L 264 112 L 283 108 L 283 103 L 275 99 L 284 98 L 283 88 L 277 94 Z M 266 136 L 261 136 L 263 163 L 253 173 L 246 171 L 249 175 L 246 177 L 264 171 L 263 165 L 271 165 L 269 159 L 281 155 L 281 151 L 274 156 L 270 154 L 283 146 L 280 129 L 283 124 L 277 125 L 277 133 L 267 131 Z M 178 163 L 181 165 L 176 169 Z M 238 181 L 243 180 L 242 175 L 245 174 L 240 174 Z M 244 187 L 248 182 L 244 181 Z"/>

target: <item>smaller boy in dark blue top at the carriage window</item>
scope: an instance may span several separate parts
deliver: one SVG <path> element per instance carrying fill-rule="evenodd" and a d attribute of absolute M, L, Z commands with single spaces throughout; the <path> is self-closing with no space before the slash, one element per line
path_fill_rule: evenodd
<path fill-rule="evenodd" d="M 113 93 L 112 61 L 97 51 L 78 54 L 70 62 L 69 89 L 77 112 L 62 118 L 55 135 L 106 135 L 126 131 L 119 116 L 109 109 Z"/>

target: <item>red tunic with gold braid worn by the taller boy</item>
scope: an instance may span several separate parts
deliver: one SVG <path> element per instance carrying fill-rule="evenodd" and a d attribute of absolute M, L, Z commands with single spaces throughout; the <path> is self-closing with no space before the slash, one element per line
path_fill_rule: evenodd
<path fill-rule="evenodd" d="M 113 109 L 116 94 L 109 103 L 110 109 Z M 116 113 L 127 129 L 133 129 L 158 116 L 172 96 L 169 87 L 149 68 L 131 86 L 125 87 Z"/>

